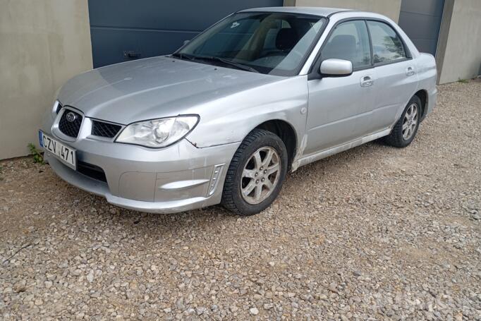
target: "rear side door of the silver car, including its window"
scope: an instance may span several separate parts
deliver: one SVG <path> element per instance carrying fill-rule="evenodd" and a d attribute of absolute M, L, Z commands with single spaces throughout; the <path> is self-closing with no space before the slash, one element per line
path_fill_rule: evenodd
<path fill-rule="evenodd" d="M 375 65 L 376 99 L 370 131 L 388 128 L 398 119 L 418 87 L 416 66 L 401 37 L 388 23 L 367 20 Z"/>

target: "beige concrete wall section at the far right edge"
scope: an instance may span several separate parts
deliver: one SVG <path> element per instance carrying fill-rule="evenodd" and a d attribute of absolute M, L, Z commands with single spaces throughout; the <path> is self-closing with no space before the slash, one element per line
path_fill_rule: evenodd
<path fill-rule="evenodd" d="M 439 32 L 439 83 L 474 78 L 481 66 L 481 0 L 446 0 Z"/>

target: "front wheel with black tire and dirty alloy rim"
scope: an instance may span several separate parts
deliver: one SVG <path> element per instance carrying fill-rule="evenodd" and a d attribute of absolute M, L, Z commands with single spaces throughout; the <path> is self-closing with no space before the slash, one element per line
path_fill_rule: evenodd
<path fill-rule="evenodd" d="M 287 150 L 281 138 L 261 129 L 251 131 L 229 164 L 221 205 L 239 215 L 262 212 L 279 195 L 287 166 Z"/>

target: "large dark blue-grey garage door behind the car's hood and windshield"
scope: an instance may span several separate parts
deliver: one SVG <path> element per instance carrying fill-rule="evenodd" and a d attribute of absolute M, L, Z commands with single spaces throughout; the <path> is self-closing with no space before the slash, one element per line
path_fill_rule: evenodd
<path fill-rule="evenodd" d="M 170 54 L 234 11 L 283 0 L 89 0 L 94 67 Z"/>

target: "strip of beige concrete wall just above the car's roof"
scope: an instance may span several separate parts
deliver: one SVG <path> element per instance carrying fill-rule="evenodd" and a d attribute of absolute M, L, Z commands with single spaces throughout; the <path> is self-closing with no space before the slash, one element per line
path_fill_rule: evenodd
<path fill-rule="evenodd" d="M 284 6 L 324 6 L 372 11 L 398 22 L 401 0 L 284 0 Z"/>

